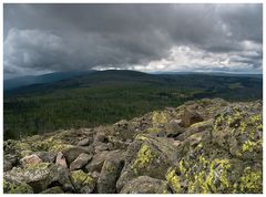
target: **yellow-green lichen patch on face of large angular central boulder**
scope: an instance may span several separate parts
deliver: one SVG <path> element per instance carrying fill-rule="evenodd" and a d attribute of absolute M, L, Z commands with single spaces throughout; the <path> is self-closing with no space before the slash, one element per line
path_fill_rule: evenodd
<path fill-rule="evenodd" d="M 142 145 L 141 149 L 137 152 L 136 158 L 132 168 L 136 173 L 136 169 L 145 168 L 147 164 L 156 158 L 156 154 L 151 151 L 147 145 Z"/>

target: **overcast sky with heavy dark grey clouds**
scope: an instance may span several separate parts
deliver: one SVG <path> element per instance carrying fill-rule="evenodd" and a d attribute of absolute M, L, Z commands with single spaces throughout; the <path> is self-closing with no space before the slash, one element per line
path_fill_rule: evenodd
<path fill-rule="evenodd" d="M 262 4 L 3 7 L 3 74 L 73 70 L 262 73 Z"/>

